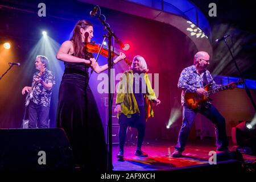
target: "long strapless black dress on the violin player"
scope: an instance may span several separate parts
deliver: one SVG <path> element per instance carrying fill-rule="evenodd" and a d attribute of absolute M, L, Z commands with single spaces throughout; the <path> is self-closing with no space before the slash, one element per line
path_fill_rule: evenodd
<path fill-rule="evenodd" d="M 108 150 L 92 90 L 88 66 L 65 62 L 59 90 L 57 127 L 67 133 L 74 163 L 86 171 L 105 171 Z"/>

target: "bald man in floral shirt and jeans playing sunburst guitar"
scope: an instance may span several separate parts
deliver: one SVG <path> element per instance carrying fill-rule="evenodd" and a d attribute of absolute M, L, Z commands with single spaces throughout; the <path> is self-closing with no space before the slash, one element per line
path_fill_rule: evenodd
<path fill-rule="evenodd" d="M 181 72 L 178 88 L 182 89 L 181 104 L 183 105 L 183 121 L 179 132 L 179 138 L 175 146 L 172 156 L 179 158 L 185 150 L 185 144 L 188 139 L 189 132 L 195 120 L 196 113 L 201 113 L 215 125 L 216 146 L 217 151 L 228 151 L 228 139 L 226 137 L 225 119 L 210 102 L 204 102 L 198 109 L 189 109 L 184 102 L 184 92 L 197 94 L 206 94 L 205 85 L 210 85 L 210 89 L 216 89 L 221 85 L 217 85 L 210 72 L 206 69 L 209 65 L 210 56 L 207 52 L 200 51 L 194 56 L 194 65 L 183 69 Z M 230 83 L 232 89 L 236 85 Z"/>

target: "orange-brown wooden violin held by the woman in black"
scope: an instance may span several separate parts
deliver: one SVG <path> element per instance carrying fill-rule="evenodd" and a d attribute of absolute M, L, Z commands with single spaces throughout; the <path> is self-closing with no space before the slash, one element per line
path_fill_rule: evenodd
<path fill-rule="evenodd" d="M 99 44 L 96 44 L 95 42 L 85 44 L 85 51 L 88 52 L 88 53 L 98 53 L 100 51 L 100 48 L 101 48 L 101 46 Z M 108 48 L 106 48 L 106 47 L 101 48 L 100 55 L 102 55 L 104 57 L 108 57 L 108 53 L 109 53 Z M 116 52 L 116 51 L 114 51 L 114 53 L 113 53 L 113 51 L 111 51 L 111 54 L 112 54 L 112 57 L 113 56 L 119 56 L 119 53 Z M 129 65 L 129 67 L 131 66 L 132 62 L 129 61 L 126 57 L 123 60 L 125 61 L 125 63 L 127 65 Z"/>

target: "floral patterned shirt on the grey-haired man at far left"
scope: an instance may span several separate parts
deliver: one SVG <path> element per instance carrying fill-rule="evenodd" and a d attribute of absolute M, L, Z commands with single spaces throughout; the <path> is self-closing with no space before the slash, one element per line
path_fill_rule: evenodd
<path fill-rule="evenodd" d="M 38 73 L 39 72 L 36 72 L 33 78 L 36 77 Z M 55 85 L 55 76 L 51 71 L 48 71 L 48 69 L 46 69 L 46 71 L 43 73 L 41 78 L 47 84 L 51 82 L 53 85 Z M 35 86 L 33 98 L 31 99 L 31 101 L 33 101 L 37 105 L 49 107 L 51 103 L 51 96 L 52 96 L 52 89 L 47 90 L 46 88 L 43 87 L 42 84 L 39 83 Z"/>

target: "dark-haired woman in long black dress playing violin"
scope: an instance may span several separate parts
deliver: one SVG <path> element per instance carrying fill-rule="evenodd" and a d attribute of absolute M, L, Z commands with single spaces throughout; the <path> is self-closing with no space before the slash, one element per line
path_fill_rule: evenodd
<path fill-rule="evenodd" d="M 88 85 L 88 68 L 100 73 L 108 64 L 98 65 L 84 44 L 93 38 L 93 25 L 79 20 L 70 40 L 65 41 L 57 52 L 57 59 L 64 61 L 65 71 L 59 90 L 57 127 L 65 130 L 73 150 L 74 164 L 86 171 L 107 169 L 107 147 L 100 114 Z M 125 59 L 120 55 L 114 63 Z"/>

